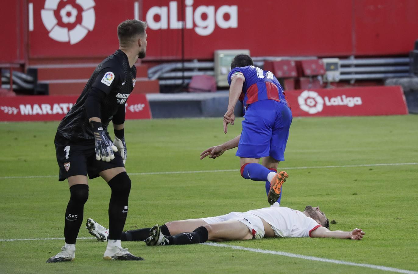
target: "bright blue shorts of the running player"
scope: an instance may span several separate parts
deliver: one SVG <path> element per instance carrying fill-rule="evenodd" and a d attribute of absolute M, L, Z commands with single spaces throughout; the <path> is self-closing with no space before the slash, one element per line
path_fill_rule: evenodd
<path fill-rule="evenodd" d="M 284 152 L 292 123 L 288 106 L 274 100 L 261 100 L 247 106 L 237 156 L 271 156 L 284 161 Z"/>

